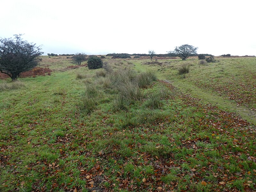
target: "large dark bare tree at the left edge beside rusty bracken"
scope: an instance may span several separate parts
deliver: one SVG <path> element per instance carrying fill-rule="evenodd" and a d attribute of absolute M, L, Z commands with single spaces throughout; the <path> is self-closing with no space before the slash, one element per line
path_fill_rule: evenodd
<path fill-rule="evenodd" d="M 0 39 L 0 72 L 7 74 L 16 80 L 21 72 L 28 71 L 38 64 L 41 60 L 38 56 L 42 55 L 40 46 L 22 40 L 20 35 L 14 38 Z"/>

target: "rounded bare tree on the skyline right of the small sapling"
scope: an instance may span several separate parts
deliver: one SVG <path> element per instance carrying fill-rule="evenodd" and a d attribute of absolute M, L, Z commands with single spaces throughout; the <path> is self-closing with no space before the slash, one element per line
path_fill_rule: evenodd
<path fill-rule="evenodd" d="M 194 47 L 189 44 L 180 45 L 179 47 L 175 47 L 174 51 L 169 51 L 169 54 L 176 54 L 178 57 L 180 57 L 182 60 L 186 60 L 188 57 L 192 56 L 193 54 L 196 54 L 196 50 L 198 47 Z"/>

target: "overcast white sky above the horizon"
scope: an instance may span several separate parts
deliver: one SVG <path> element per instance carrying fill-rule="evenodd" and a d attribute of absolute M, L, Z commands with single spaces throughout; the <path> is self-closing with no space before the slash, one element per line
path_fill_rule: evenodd
<path fill-rule="evenodd" d="M 2 0 L 0 37 L 24 34 L 44 54 L 148 53 L 190 44 L 256 55 L 255 0 Z"/>

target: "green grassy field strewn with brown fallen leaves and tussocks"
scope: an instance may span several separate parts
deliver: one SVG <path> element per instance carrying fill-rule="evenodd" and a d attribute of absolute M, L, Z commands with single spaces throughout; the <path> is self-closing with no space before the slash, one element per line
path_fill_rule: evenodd
<path fill-rule="evenodd" d="M 256 58 L 42 58 L 0 80 L 0 191 L 255 191 Z"/>

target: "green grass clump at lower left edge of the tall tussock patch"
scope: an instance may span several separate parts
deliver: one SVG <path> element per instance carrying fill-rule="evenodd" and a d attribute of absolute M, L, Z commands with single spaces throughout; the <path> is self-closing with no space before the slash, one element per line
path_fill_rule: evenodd
<path fill-rule="evenodd" d="M 82 112 L 89 114 L 96 108 L 97 104 L 98 102 L 95 98 L 84 95 L 78 103 L 78 107 Z"/>

